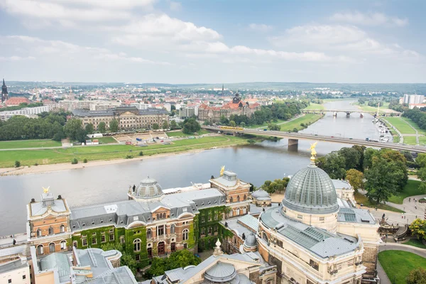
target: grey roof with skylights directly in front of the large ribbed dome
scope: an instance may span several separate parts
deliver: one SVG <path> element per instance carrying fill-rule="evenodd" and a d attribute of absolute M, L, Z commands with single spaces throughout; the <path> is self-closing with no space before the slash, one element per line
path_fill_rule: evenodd
<path fill-rule="evenodd" d="M 261 214 L 260 218 L 265 226 L 276 229 L 285 239 L 293 241 L 320 258 L 343 255 L 359 246 L 359 240 L 354 237 L 334 235 L 324 229 L 288 219 L 278 208 L 269 209 Z"/>

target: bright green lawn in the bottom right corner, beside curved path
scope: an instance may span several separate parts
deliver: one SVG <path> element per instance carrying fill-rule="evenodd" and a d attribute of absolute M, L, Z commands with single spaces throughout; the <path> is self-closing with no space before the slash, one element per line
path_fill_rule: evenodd
<path fill-rule="evenodd" d="M 407 276 L 413 269 L 426 267 L 426 258 L 408 251 L 381 251 L 378 253 L 378 261 L 389 280 L 396 284 L 405 284 Z"/>

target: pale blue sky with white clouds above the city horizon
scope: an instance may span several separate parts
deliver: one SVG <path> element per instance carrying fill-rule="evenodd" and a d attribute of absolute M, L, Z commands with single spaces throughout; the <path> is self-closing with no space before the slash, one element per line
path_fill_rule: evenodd
<path fill-rule="evenodd" d="M 0 76 L 425 83 L 425 11 L 423 0 L 0 0 Z"/>

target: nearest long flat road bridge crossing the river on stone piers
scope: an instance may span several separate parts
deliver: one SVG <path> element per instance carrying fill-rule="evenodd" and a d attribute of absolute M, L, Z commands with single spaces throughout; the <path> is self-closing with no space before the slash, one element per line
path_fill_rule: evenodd
<path fill-rule="evenodd" d="M 367 147 L 376 147 L 376 148 L 390 148 L 393 150 L 405 150 L 415 153 L 426 153 L 426 147 L 424 146 L 409 146 L 403 145 L 399 143 L 381 143 L 381 142 L 373 142 L 373 141 L 365 141 L 362 139 L 353 139 L 353 138 L 342 138 L 342 137 L 334 137 L 334 136 L 321 136 L 321 135 L 312 135 L 305 133 L 297 133 L 297 132 L 284 132 L 284 131 L 264 131 L 261 129 L 221 129 L 219 127 L 214 126 L 202 126 L 202 129 L 207 129 L 211 131 L 222 131 L 224 133 L 246 133 L 246 134 L 254 134 L 258 136 L 274 136 L 279 138 L 287 138 L 288 139 L 288 147 L 295 146 L 299 143 L 299 139 L 302 140 L 312 140 L 312 141 L 327 141 L 333 143 L 344 143 L 350 145 L 361 145 Z"/>

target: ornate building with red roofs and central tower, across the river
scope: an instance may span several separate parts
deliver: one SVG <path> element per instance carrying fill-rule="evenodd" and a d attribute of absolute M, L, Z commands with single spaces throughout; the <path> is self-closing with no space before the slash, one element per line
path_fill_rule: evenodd
<path fill-rule="evenodd" d="M 224 104 L 222 107 L 209 107 L 207 104 L 202 104 L 198 108 L 198 119 L 201 121 L 217 122 L 220 121 L 222 116 L 229 119 L 231 114 L 251 116 L 254 111 L 259 109 L 261 109 L 260 104 L 257 102 L 254 104 L 243 102 L 239 97 L 239 93 L 236 92 L 232 102 Z"/>

